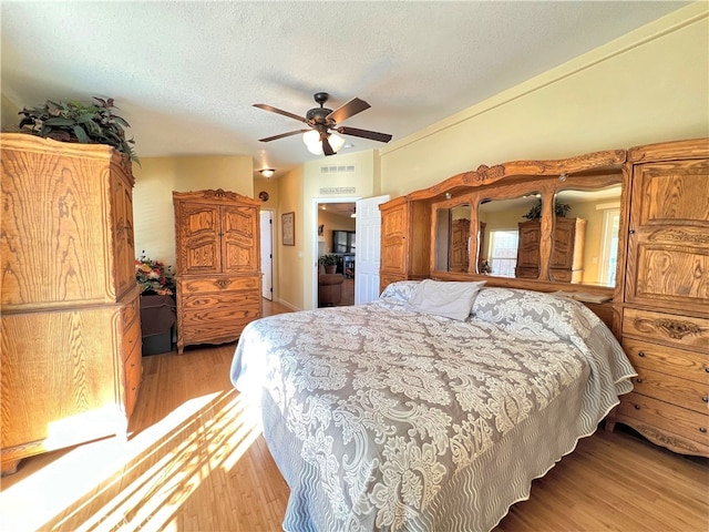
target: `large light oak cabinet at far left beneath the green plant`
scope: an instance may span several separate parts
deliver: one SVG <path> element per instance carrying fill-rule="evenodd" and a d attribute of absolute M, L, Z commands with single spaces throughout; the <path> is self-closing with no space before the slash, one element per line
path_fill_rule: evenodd
<path fill-rule="evenodd" d="M 133 175 L 104 145 L 1 135 L 2 472 L 125 437 L 141 382 Z"/>

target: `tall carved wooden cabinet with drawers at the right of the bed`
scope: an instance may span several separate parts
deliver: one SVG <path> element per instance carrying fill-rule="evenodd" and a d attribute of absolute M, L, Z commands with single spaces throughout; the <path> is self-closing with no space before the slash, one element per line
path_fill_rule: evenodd
<path fill-rule="evenodd" d="M 613 422 L 709 456 L 709 140 L 628 152 L 623 346 L 638 371 Z"/>

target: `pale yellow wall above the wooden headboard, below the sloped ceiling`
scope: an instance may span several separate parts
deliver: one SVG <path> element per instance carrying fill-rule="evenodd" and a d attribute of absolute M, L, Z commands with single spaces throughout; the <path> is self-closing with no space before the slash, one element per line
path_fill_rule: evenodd
<path fill-rule="evenodd" d="M 381 150 L 392 197 L 527 158 L 709 135 L 709 21 L 697 2 Z"/>

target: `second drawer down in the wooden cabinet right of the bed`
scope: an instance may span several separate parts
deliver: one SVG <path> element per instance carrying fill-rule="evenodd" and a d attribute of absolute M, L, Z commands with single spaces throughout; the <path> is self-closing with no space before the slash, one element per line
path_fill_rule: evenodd
<path fill-rule="evenodd" d="M 636 369 L 651 369 L 709 386 L 709 355 L 631 338 L 623 339 L 623 349 Z"/>

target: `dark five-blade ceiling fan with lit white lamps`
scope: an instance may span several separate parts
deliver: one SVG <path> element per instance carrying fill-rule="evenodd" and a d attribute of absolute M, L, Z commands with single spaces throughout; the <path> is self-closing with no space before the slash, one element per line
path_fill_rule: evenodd
<path fill-rule="evenodd" d="M 288 111 L 273 108 L 265 103 L 255 103 L 255 108 L 263 109 L 264 111 L 270 111 L 271 113 L 282 114 L 284 116 L 291 117 L 294 120 L 297 120 L 298 122 L 305 122 L 311 127 L 310 130 L 296 130 L 289 131 L 288 133 L 281 133 L 280 135 L 267 136 L 266 139 L 260 139 L 260 142 L 270 142 L 278 139 L 284 139 L 286 136 L 305 133 L 306 135 L 304 135 L 304 142 L 306 142 L 306 145 L 308 145 L 309 151 L 318 154 L 323 153 L 325 155 L 335 155 L 335 153 L 337 153 L 337 151 L 342 147 L 343 141 L 341 137 L 333 135 L 331 132 L 341 133 L 343 135 L 359 136 L 362 139 L 369 139 L 379 142 L 389 142 L 391 140 L 391 135 L 387 133 L 378 133 L 376 131 L 359 130 L 357 127 L 347 127 L 343 125 L 339 125 L 341 122 L 345 122 L 347 119 L 354 116 L 357 113 L 361 113 L 362 111 L 369 109 L 371 105 L 366 101 L 360 100 L 359 98 L 353 98 L 345 105 L 332 111 L 331 109 L 327 109 L 325 106 L 325 103 L 328 101 L 329 96 L 330 95 L 327 92 L 316 92 L 312 98 L 315 99 L 316 103 L 320 104 L 320 106 L 314 108 L 308 111 L 305 117 L 294 113 L 289 113 Z M 336 143 L 335 141 L 340 142 Z M 315 144 L 315 146 L 312 146 L 312 144 Z M 319 150 L 321 150 L 321 152 Z"/>

